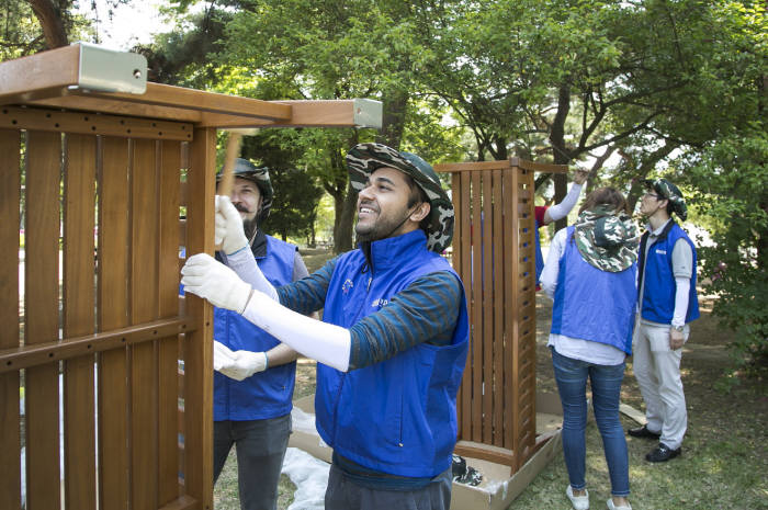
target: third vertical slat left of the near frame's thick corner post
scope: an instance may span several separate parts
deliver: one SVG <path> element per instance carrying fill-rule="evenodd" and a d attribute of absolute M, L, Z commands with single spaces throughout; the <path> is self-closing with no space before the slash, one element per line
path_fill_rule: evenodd
<path fill-rule="evenodd" d="M 101 155 L 98 318 L 99 330 L 110 331 L 128 325 L 128 140 L 102 138 Z M 125 510 L 129 505 L 127 366 L 126 348 L 100 354 L 99 499 L 103 509 Z"/>

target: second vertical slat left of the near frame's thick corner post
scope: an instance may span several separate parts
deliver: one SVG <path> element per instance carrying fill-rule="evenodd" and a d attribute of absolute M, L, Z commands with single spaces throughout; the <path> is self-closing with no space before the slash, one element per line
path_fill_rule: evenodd
<path fill-rule="evenodd" d="M 131 172 L 131 322 L 157 318 L 158 195 L 156 141 L 134 140 Z M 156 342 L 132 348 L 131 476 L 134 508 L 157 507 Z"/>

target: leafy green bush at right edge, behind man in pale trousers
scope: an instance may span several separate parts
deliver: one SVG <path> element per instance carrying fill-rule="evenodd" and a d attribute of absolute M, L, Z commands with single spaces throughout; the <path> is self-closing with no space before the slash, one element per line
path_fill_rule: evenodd
<path fill-rule="evenodd" d="M 768 375 L 768 134 L 755 122 L 692 158 L 691 203 L 712 218 L 714 245 L 699 249 L 713 314 L 736 331 L 735 367 Z"/>

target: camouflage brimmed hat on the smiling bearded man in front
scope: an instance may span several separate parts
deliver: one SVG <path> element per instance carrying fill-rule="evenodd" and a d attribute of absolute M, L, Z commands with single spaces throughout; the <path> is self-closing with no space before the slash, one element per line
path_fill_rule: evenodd
<path fill-rule="evenodd" d="M 427 249 L 442 252 L 453 239 L 453 203 L 440 185 L 434 169 L 420 157 L 397 151 L 383 144 L 359 144 L 347 154 L 347 168 L 352 188 L 360 192 L 375 170 L 394 168 L 409 175 L 427 196 L 430 204 L 428 218 L 422 222 L 427 234 Z"/>

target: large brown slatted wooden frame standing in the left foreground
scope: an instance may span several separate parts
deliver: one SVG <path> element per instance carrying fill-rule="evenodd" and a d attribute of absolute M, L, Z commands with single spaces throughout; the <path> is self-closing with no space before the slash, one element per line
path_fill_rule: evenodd
<path fill-rule="evenodd" d="M 21 508 L 23 370 L 27 510 L 211 509 L 213 313 L 178 287 L 180 246 L 214 249 L 216 131 L 381 127 L 382 105 L 92 90 L 82 49 L 0 63 L 0 508 Z"/>

